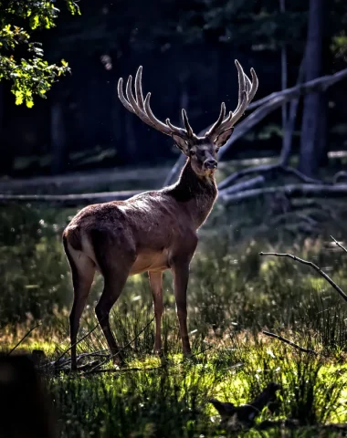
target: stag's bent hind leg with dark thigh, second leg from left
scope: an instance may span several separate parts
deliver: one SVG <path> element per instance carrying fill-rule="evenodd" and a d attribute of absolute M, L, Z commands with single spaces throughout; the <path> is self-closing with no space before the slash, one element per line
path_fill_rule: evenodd
<path fill-rule="evenodd" d="M 110 329 L 110 310 L 121 295 L 136 254 L 131 243 L 125 242 L 122 236 L 117 239 L 107 232 L 95 230 L 91 239 L 104 277 L 104 287 L 95 313 L 109 345 L 113 363 L 123 364 L 124 358 Z"/>

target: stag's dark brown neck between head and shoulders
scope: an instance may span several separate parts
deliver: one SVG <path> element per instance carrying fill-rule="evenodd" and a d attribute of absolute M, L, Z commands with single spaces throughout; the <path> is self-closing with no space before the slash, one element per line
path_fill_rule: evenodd
<path fill-rule="evenodd" d="M 197 175 L 192 169 L 190 158 L 185 162 L 177 183 L 164 189 L 164 192 L 183 204 L 194 221 L 195 229 L 204 224 L 218 193 L 215 176 Z"/>

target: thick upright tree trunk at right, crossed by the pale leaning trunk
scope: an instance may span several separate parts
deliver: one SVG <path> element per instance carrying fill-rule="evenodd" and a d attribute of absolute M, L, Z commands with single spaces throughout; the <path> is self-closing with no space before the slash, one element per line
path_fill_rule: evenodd
<path fill-rule="evenodd" d="M 322 27 L 324 0 L 310 0 L 308 36 L 306 43 L 306 81 L 321 75 Z M 300 172 L 314 176 L 321 160 L 320 150 L 322 138 L 321 112 L 325 99 L 320 93 L 312 93 L 305 97 L 303 105 L 301 141 L 300 141 Z"/>

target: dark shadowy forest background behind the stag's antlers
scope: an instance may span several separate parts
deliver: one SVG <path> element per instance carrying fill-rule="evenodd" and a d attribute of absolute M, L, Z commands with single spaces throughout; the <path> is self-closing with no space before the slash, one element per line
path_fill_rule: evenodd
<path fill-rule="evenodd" d="M 318 0 L 323 10 L 321 75 L 346 67 L 344 28 L 347 5 Z M 195 132 L 216 120 L 221 101 L 237 105 L 237 58 L 258 73 L 260 99 L 281 88 L 280 51 L 288 56 L 288 86 L 295 85 L 307 41 L 309 0 L 125 0 L 79 2 L 71 16 L 63 2 L 57 27 L 33 33 L 50 62 L 68 61 L 72 74 L 59 78 L 48 99 L 29 110 L 16 106 L 10 84 L 0 84 L 0 174 L 59 174 L 112 166 L 161 165 L 178 151 L 163 134 L 125 110 L 117 82 L 143 66 L 143 91 L 152 92 L 152 110 L 175 124 L 181 108 Z M 317 35 L 318 35 L 317 34 Z M 309 59 L 310 65 L 311 59 Z M 347 81 L 323 95 L 325 151 L 346 148 Z M 300 113 L 294 136 L 300 143 Z M 280 110 L 252 135 L 237 141 L 226 158 L 278 153 Z M 323 162 L 323 161 L 322 161 Z"/>

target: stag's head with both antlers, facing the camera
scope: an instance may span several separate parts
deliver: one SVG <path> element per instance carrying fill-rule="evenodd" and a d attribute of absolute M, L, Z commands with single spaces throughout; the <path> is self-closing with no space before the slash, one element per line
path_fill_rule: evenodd
<path fill-rule="evenodd" d="M 254 98 L 258 89 L 258 78 L 253 68 L 250 70 L 252 81 L 247 78 L 243 68 L 236 60 L 238 72 L 238 103 L 237 109 L 230 111 L 226 116 L 226 104 L 222 102 L 219 117 L 216 123 L 205 132 L 203 137 L 195 135 L 189 124 L 185 110 L 182 110 L 184 128 L 174 126 L 169 119 L 165 123 L 158 120 L 152 113 L 150 106 L 151 93 L 147 93 L 145 99 L 142 94 L 142 67 L 139 67 L 135 77 L 135 96 L 132 93 L 132 77 L 128 78 L 126 84 L 126 98 L 123 94 L 123 79 L 118 82 L 118 97 L 124 107 L 136 114 L 144 123 L 152 126 L 155 130 L 160 130 L 163 134 L 170 135 L 176 146 L 190 158 L 192 168 L 197 175 L 205 176 L 213 174 L 217 167 L 217 152 L 219 148 L 226 144 L 234 126 L 247 106 Z"/>

